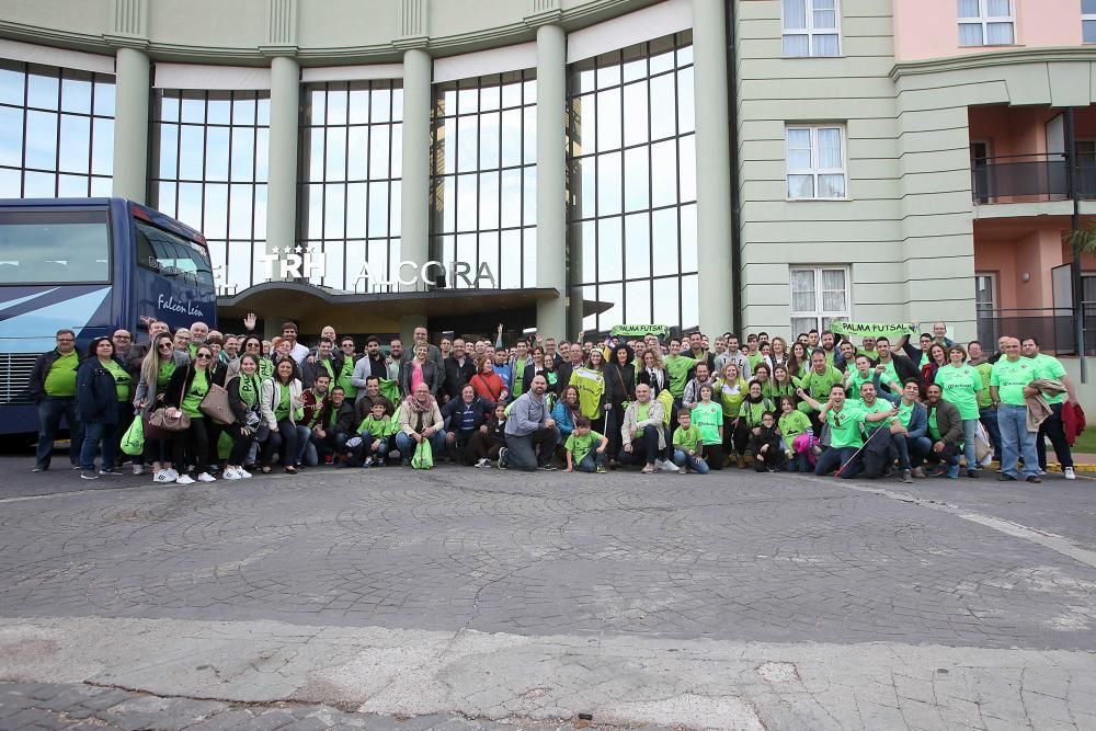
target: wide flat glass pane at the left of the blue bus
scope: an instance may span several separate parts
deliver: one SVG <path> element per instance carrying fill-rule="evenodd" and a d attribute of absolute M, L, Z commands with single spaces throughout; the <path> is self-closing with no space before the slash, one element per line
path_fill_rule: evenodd
<path fill-rule="evenodd" d="M 0 285 L 110 281 L 105 210 L 0 213 Z"/>

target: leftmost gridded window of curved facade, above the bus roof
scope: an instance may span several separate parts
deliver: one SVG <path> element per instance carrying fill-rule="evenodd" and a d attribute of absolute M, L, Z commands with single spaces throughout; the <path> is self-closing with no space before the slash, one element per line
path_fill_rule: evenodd
<path fill-rule="evenodd" d="M 109 196 L 114 77 L 0 60 L 0 197 Z"/>

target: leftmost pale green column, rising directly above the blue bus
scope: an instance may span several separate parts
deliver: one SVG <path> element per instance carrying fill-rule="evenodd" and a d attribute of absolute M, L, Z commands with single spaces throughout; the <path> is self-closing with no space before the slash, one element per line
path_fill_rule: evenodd
<path fill-rule="evenodd" d="M 115 196 L 145 203 L 148 193 L 148 99 L 150 65 L 136 48 L 118 48 L 115 57 L 114 183 Z"/>

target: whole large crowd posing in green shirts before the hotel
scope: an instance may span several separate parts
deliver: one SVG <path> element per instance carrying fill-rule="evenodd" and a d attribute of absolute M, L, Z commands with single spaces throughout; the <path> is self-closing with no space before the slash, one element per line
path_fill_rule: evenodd
<path fill-rule="evenodd" d="M 910 482 L 978 477 L 996 458 L 998 479 L 1039 482 L 1044 437 L 1074 478 L 1066 430 L 1076 393 L 1061 362 L 1035 338 L 1001 338 L 992 354 L 979 341 L 955 343 L 943 322 L 915 341 L 811 330 L 790 344 L 692 332 L 505 345 L 502 325 L 494 340 L 432 343 L 415 328 L 407 347 L 369 336 L 363 352 L 331 327 L 305 345 L 293 322 L 266 341 L 253 316 L 239 335 L 203 322 L 146 324 L 146 343 L 119 330 L 82 355 L 71 330 L 57 332 L 30 384 L 35 471 L 49 468 L 64 418 L 72 467 L 89 480 L 119 473 L 126 457 L 136 475 L 150 467 L 153 481 L 182 484 L 412 466 L 426 443 L 431 462 L 477 468 L 705 475 L 749 461 Z M 214 403 L 220 389 L 227 410 Z M 141 450 L 123 455 L 135 420 Z"/>

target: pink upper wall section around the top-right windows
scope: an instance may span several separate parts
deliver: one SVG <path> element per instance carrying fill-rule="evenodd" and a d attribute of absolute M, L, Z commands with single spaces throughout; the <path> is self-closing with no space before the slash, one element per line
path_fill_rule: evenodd
<path fill-rule="evenodd" d="M 1081 0 L 1013 0 L 1016 46 L 1078 46 Z M 894 58 L 916 61 L 1016 46 L 960 46 L 956 0 L 894 0 Z"/>

